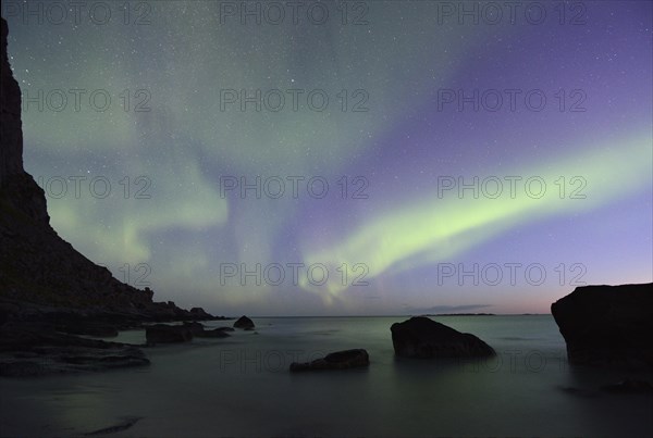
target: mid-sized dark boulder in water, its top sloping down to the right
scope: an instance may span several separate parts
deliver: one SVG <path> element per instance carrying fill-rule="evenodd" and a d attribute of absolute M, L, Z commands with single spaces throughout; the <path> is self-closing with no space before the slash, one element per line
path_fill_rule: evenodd
<path fill-rule="evenodd" d="M 483 358 L 495 352 L 473 335 L 460 333 L 426 316 L 390 327 L 395 354 L 403 358 Z"/>

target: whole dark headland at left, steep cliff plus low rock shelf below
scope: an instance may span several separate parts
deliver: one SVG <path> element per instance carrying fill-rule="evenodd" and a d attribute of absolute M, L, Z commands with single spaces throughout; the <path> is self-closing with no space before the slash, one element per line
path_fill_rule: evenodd
<path fill-rule="evenodd" d="M 215 317 L 155 302 L 151 289 L 119 281 L 52 228 L 45 192 L 23 167 L 21 88 L 8 34 L 1 18 L 0 375 L 145 365 L 149 361 L 134 346 L 77 335 L 112 337 L 144 323 Z"/>

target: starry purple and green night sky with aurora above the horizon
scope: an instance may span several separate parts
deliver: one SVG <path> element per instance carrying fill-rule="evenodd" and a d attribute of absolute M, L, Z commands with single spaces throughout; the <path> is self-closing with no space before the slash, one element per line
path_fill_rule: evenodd
<path fill-rule="evenodd" d="M 652 280 L 651 2 L 291 3 L 3 2 L 60 236 L 214 314 Z"/>

